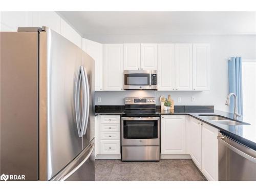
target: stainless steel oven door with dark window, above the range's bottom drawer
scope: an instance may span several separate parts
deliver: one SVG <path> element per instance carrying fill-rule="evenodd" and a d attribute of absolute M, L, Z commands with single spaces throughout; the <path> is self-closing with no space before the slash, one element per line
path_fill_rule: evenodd
<path fill-rule="evenodd" d="M 122 117 L 122 146 L 159 146 L 159 117 Z"/>

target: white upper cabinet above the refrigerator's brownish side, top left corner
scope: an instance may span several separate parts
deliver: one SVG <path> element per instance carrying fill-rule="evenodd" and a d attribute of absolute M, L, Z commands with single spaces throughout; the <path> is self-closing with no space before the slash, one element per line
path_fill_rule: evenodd
<path fill-rule="evenodd" d="M 32 26 L 32 12 L 1 11 L 1 31 L 17 31 L 18 27 Z"/>

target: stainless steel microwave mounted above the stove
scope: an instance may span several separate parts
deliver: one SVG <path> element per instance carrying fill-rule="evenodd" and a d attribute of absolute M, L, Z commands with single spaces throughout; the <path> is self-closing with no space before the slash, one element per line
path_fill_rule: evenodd
<path fill-rule="evenodd" d="M 123 71 L 124 90 L 157 90 L 156 70 Z"/>

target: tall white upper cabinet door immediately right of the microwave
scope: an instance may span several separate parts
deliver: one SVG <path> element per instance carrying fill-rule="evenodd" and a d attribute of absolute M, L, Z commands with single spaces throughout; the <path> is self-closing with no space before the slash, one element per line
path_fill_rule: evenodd
<path fill-rule="evenodd" d="M 157 48 L 158 90 L 175 90 L 175 45 L 158 44 Z"/>

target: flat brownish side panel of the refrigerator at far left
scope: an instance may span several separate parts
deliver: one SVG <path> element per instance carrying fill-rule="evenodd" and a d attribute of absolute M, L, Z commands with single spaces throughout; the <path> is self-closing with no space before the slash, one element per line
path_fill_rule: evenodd
<path fill-rule="evenodd" d="M 0 32 L 0 175 L 38 180 L 38 33 Z"/>

